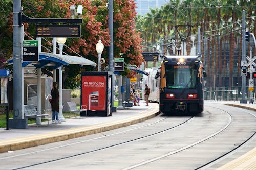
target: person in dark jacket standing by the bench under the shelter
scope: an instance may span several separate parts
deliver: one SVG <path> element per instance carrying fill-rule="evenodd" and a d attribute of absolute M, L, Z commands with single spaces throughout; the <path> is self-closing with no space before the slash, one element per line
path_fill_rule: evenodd
<path fill-rule="evenodd" d="M 57 89 L 58 83 L 53 82 L 53 88 L 51 90 L 51 106 L 52 106 L 52 123 L 53 124 L 61 124 L 62 122 L 59 120 L 59 90 Z M 56 119 L 55 119 L 56 117 Z"/>

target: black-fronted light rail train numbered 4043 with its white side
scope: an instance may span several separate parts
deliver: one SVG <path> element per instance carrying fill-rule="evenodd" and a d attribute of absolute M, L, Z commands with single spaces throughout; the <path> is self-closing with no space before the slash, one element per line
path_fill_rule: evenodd
<path fill-rule="evenodd" d="M 159 103 L 163 113 L 192 114 L 204 110 L 203 65 L 200 56 L 164 56 L 160 67 L 145 69 L 145 84 L 151 89 L 149 100 Z"/>

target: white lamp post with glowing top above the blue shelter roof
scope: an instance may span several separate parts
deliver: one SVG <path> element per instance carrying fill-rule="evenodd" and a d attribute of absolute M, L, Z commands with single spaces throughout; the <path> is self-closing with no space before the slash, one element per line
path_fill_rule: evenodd
<path fill-rule="evenodd" d="M 59 45 L 59 54 L 62 55 L 63 46 L 66 42 L 67 38 L 57 38 L 57 42 Z M 62 66 L 59 67 L 59 120 L 61 122 L 66 122 L 63 116 L 63 93 L 62 93 Z"/>

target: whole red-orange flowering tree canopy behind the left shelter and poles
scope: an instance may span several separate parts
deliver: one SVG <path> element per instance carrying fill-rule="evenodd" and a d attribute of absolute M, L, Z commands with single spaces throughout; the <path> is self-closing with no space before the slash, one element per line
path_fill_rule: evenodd
<path fill-rule="evenodd" d="M 101 0 L 26 0 L 22 1 L 23 13 L 28 17 L 33 18 L 71 18 L 70 6 L 83 6 L 81 18 L 81 37 L 68 38 L 66 45 L 72 50 L 64 48 L 63 52 L 70 55 L 78 53 L 84 58 L 98 63 L 98 55 L 95 45 L 99 38 L 105 48 L 102 54 L 108 61 L 108 46 L 110 44 L 110 35 L 108 29 L 108 1 Z M 135 3 L 132 0 L 114 1 L 114 57 L 125 58 L 125 62 L 131 65 L 140 65 L 143 62 L 141 55 L 142 39 L 139 33 L 135 30 Z M 76 16 L 77 18 L 77 16 Z M 9 22 L 9 34 L 12 34 L 12 18 Z M 25 32 L 29 37 L 25 39 L 35 38 L 35 24 L 26 23 Z M 47 38 L 51 42 L 51 38 Z M 52 48 L 52 44 L 42 41 L 42 45 L 48 49 Z M 9 45 L 12 48 L 12 45 Z M 42 48 L 44 49 L 44 48 Z M 46 50 L 44 50 L 46 51 Z M 47 51 L 48 52 L 48 51 Z M 11 54 L 9 55 L 11 56 Z M 103 65 L 103 68 L 108 65 L 108 62 Z M 88 66 L 77 67 L 69 65 L 65 67 L 63 72 L 63 81 L 65 88 L 74 88 L 76 86 L 75 78 L 81 70 L 95 70 Z M 125 75 L 132 76 L 129 71 Z"/>

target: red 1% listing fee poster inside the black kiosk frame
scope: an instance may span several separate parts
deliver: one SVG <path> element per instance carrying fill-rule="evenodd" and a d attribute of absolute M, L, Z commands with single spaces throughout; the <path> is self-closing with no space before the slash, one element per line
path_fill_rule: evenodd
<path fill-rule="evenodd" d="M 82 105 L 88 110 L 106 110 L 106 77 L 82 76 Z"/>

